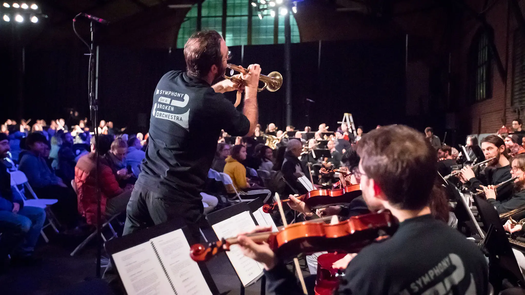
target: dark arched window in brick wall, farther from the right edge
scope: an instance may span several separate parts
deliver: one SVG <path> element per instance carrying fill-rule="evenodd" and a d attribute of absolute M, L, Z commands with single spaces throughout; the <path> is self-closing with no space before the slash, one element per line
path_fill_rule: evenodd
<path fill-rule="evenodd" d="M 485 30 L 480 30 L 470 46 L 470 88 L 474 102 L 492 97 L 491 52 Z"/>

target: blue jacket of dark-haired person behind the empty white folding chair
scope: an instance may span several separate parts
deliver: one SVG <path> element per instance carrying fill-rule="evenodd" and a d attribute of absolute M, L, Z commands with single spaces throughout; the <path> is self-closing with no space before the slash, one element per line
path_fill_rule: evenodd
<path fill-rule="evenodd" d="M 58 185 L 61 182 L 60 178 L 51 172 L 44 158 L 30 151 L 20 153 L 18 170 L 26 174 L 27 181 L 33 187 Z"/>

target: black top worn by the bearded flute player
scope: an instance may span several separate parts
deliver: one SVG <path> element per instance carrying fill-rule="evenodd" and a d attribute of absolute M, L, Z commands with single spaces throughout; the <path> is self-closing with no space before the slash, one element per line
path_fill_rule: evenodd
<path fill-rule="evenodd" d="M 512 178 L 510 174 L 510 165 L 495 168 L 492 166 L 488 166 L 485 168 L 484 171 L 479 173 L 479 176 L 472 177 L 468 180 L 469 188 L 472 193 L 477 193 L 478 191 L 476 188 L 481 189 L 480 185 L 497 185 L 500 184 L 506 180 L 509 180 Z M 512 197 L 512 185 L 503 185 L 501 187 L 498 187 L 498 194 L 496 195 L 496 199 L 498 201 L 505 201 Z"/>

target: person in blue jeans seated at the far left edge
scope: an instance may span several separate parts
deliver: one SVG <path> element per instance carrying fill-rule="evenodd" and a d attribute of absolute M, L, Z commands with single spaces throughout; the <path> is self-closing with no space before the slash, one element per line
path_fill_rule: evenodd
<path fill-rule="evenodd" d="M 7 152 L 7 135 L 0 133 L 0 159 Z M 24 199 L 11 188 L 10 174 L 0 162 L 0 273 L 7 266 L 8 255 L 13 264 L 35 261 L 33 252 L 45 220 L 44 209 L 24 206 Z"/>

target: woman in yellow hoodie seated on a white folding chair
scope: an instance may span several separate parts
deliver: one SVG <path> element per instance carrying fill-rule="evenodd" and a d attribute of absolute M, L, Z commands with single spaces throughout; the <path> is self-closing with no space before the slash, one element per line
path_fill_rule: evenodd
<path fill-rule="evenodd" d="M 246 160 L 246 147 L 235 145 L 232 148 L 232 154 L 226 157 L 224 173 L 232 178 L 233 185 L 241 196 L 250 196 L 250 198 L 262 196 L 266 203 L 270 199 L 271 192 L 269 189 L 250 185 L 250 179 L 246 177 L 246 168 L 241 164 L 244 160 Z"/>

